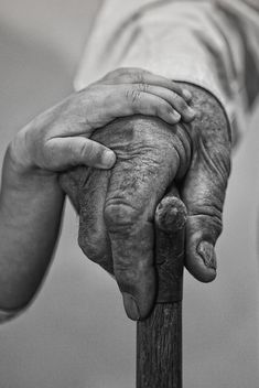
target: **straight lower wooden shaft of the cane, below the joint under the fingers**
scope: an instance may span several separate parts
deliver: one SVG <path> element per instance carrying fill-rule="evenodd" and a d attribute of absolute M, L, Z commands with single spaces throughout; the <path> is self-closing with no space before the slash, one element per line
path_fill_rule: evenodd
<path fill-rule="evenodd" d="M 137 324 L 137 388 L 182 387 L 182 302 L 158 303 Z"/>

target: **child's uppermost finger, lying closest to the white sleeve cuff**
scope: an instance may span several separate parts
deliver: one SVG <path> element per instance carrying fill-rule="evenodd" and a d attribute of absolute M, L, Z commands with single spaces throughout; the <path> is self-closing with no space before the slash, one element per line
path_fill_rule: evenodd
<path fill-rule="evenodd" d="M 180 84 L 138 67 L 118 68 L 114 72 L 108 73 L 101 79 L 101 83 L 102 82 L 107 84 L 112 82 L 112 84 L 148 84 L 153 86 L 160 86 L 176 93 L 177 95 L 182 96 L 187 103 L 192 99 L 191 91 L 182 87 Z"/>

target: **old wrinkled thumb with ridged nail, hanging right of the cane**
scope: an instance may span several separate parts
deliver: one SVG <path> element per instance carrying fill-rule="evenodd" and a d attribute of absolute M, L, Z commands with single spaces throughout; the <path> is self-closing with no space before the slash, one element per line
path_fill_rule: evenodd
<path fill-rule="evenodd" d="M 183 201 L 188 211 L 185 266 L 203 282 L 216 277 L 215 244 L 223 228 L 223 205 L 230 171 L 229 151 L 224 146 L 219 148 L 222 150 L 215 150 L 215 144 L 211 144 L 208 149 L 199 142 L 199 157 L 191 166 L 183 187 Z"/>

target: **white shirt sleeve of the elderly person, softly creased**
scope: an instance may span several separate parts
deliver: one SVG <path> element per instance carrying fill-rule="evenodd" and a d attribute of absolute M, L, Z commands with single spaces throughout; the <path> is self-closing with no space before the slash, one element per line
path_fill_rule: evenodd
<path fill-rule="evenodd" d="M 117 67 L 142 67 L 207 89 L 238 136 L 258 103 L 259 1 L 107 0 L 76 89 Z"/>

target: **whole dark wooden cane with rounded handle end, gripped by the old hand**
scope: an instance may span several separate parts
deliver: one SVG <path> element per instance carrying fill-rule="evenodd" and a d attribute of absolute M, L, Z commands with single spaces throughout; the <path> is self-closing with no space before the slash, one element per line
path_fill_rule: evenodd
<path fill-rule="evenodd" d="M 157 302 L 137 323 L 137 388 L 182 388 L 182 295 L 187 212 L 176 187 L 155 212 Z"/>

